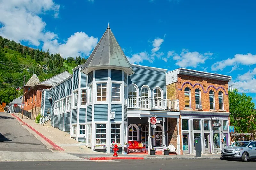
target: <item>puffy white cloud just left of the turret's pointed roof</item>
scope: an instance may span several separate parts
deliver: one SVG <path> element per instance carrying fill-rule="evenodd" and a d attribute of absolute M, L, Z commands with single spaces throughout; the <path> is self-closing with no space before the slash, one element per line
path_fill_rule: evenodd
<path fill-rule="evenodd" d="M 71 35 L 66 43 L 59 43 L 57 39 L 44 42 L 43 49 L 49 49 L 51 53 L 60 53 L 62 57 L 88 56 L 97 45 L 98 38 L 89 37 L 84 32 L 76 32 Z"/>

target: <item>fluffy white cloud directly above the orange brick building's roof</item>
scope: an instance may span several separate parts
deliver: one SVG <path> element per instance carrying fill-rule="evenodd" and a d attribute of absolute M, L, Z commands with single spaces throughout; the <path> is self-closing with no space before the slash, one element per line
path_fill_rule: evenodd
<path fill-rule="evenodd" d="M 168 55 L 168 54 L 167 54 Z M 173 53 L 172 53 L 173 55 Z M 187 49 L 182 49 L 180 55 L 175 54 L 173 60 L 178 60 L 175 64 L 180 67 L 194 67 L 196 68 L 198 64 L 202 64 L 212 56 L 213 53 L 204 53 L 201 54 L 197 51 L 189 52 Z"/>

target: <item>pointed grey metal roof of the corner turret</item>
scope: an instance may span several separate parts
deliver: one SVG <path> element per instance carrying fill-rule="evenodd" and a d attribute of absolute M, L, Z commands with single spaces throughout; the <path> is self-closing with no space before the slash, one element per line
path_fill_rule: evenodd
<path fill-rule="evenodd" d="M 115 66 L 124 67 L 127 74 L 133 74 L 134 71 L 124 55 L 122 48 L 116 41 L 109 24 L 97 46 L 92 51 L 91 55 L 84 63 L 82 71 L 88 74 L 88 67 Z"/>

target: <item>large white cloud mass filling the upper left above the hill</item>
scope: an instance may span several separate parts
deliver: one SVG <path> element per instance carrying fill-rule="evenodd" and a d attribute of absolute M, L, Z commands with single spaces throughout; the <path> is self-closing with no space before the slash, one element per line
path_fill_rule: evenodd
<path fill-rule="evenodd" d="M 51 53 L 60 53 L 62 57 L 89 55 L 98 39 L 84 32 L 76 32 L 65 43 L 58 42 L 54 32 L 45 29 L 46 23 L 39 15 L 52 13 L 58 17 L 59 4 L 53 0 L 0 0 L 0 36 L 17 42 L 28 41 L 34 46 L 43 44 Z"/>

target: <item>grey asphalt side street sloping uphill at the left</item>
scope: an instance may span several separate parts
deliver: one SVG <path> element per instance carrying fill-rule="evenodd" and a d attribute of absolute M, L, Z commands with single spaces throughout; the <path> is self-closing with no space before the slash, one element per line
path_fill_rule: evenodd
<path fill-rule="evenodd" d="M 0 112 L 0 151 L 51 152 L 15 118 L 3 112 Z"/>

